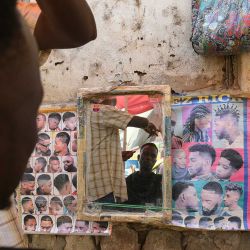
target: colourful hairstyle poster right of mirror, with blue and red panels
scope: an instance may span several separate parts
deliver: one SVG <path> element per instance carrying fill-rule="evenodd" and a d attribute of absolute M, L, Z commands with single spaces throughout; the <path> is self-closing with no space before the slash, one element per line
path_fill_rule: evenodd
<path fill-rule="evenodd" d="M 173 225 L 247 229 L 247 104 L 229 95 L 174 98 Z"/>

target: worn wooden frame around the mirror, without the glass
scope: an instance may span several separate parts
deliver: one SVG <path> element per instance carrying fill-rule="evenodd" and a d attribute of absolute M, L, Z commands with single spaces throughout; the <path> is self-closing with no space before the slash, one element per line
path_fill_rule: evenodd
<path fill-rule="evenodd" d="M 164 143 L 164 170 L 162 180 L 162 195 L 163 204 L 162 211 L 144 213 L 138 212 L 106 212 L 100 209 L 87 209 L 87 204 L 92 202 L 87 201 L 86 197 L 86 112 L 85 105 L 91 98 L 97 98 L 107 95 L 155 95 L 163 96 L 163 143 Z M 77 219 L 91 221 L 110 221 L 110 222 L 140 222 L 151 225 L 162 225 L 163 221 L 170 222 L 172 217 L 172 185 L 171 185 L 171 89 L 168 85 L 148 85 L 148 86 L 122 86 L 111 90 L 99 89 L 80 89 L 78 92 L 78 212 Z M 124 176 L 125 178 L 125 176 Z M 91 211 L 90 211 L 91 210 Z"/>

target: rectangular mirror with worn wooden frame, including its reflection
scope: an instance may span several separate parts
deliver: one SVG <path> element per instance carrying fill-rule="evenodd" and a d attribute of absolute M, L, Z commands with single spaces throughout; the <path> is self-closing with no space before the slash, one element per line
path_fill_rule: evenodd
<path fill-rule="evenodd" d="M 168 86 L 81 90 L 78 218 L 135 221 L 137 216 L 145 221 L 161 220 L 163 214 L 168 217 L 169 93 Z"/>

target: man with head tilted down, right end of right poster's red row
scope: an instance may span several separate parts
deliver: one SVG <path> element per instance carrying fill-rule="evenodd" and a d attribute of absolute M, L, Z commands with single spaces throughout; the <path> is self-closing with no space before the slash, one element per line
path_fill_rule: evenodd
<path fill-rule="evenodd" d="M 225 149 L 221 152 L 215 177 L 218 180 L 230 180 L 231 176 L 243 166 L 242 156 L 235 149 Z"/>

